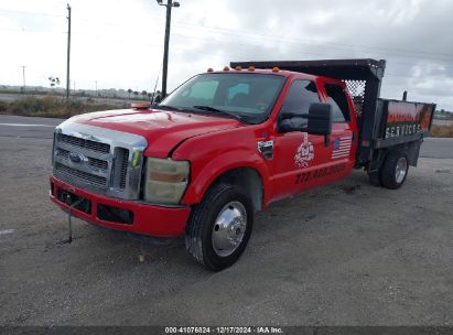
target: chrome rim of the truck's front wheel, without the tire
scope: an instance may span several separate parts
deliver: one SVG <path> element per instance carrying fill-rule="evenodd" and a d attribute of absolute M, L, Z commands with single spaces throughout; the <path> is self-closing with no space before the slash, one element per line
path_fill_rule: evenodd
<path fill-rule="evenodd" d="M 230 202 L 217 215 L 213 227 L 213 249 L 228 257 L 240 246 L 247 229 L 247 210 L 239 202 Z"/>

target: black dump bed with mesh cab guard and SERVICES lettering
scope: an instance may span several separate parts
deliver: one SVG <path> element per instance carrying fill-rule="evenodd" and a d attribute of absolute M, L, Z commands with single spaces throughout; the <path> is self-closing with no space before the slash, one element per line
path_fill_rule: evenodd
<path fill-rule="evenodd" d="M 284 71 L 324 76 L 345 82 L 357 116 L 359 148 L 356 159 L 359 164 L 371 161 L 375 149 L 419 140 L 424 132 L 429 131 L 433 111 L 435 110 L 435 105 L 433 104 L 380 99 L 380 86 L 386 69 L 386 61 L 384 60 L 251 61 L 231 62 L 230 66 L 233 68 L 236 66 L 241 66 L 242 68 L 249 66 L 255 66 L 256 68 L 278 67 Z M 393 132 L 389 131 L 389 108 L 393 108 L 398 112 L 406 108 L 412 114 L 413 111 L 410 109 L 422 109 L 425 111 L 423 117 L 429 119 L 429 123 L 424 125 L 425 127 L 422 131 L 417 133 L 411 131 L 410 134 L 405 133 L 400 136 L 400 127 L 406 127 L 407 125 L 400 122 L 400 125 L 395 126 L 395 129 L 391 128 Z M 393 136 L 396 132 L 398 132 L 398 136 Z"/>

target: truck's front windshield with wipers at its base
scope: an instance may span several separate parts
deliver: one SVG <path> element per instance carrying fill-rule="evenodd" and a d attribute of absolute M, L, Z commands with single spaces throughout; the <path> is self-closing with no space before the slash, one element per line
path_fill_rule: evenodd
<path fill-rule="evenodd" d="M 188 79 L 160 106 L 260 123 L 268 117 L 285 77 L 262 74 L 202 74 Z"/>

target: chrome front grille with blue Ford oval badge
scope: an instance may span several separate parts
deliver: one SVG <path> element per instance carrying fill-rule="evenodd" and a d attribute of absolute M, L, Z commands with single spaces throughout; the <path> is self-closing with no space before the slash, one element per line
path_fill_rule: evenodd
<path fill-rule="evenodd" d="M 67 120 L 56 128 L 53 150 L 55 177 L 91 192 L 139 199 L 144 138 Z M 132 153 L 139 151 L 132 166 Z"/>

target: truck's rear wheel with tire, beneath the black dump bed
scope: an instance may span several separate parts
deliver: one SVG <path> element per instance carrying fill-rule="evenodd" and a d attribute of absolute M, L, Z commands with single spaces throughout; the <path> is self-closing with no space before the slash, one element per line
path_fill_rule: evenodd
<path fill-rule="evenodd" d="M 381 169 L 382 186 L 397 190 L 401 187 L 408 176 L 408 156 L 401 151 L 392 151 L 387 155 Z"/>

